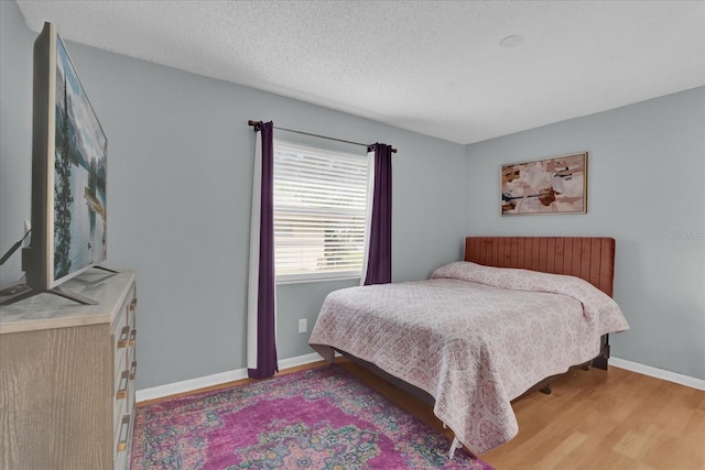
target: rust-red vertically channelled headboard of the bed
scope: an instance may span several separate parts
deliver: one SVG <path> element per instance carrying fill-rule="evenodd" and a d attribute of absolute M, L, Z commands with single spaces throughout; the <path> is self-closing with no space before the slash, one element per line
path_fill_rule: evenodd
<path fill-rule="evenodd" d="M 465 261 L 582 277 L 612 296 L 615 239 L 604 237 L 467 237 Z"/>

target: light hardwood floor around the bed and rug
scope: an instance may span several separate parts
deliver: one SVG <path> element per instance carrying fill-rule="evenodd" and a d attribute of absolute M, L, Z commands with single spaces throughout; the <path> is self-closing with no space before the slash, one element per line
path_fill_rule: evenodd
<path fill-rule="evenodd" d="M 347 359 L 337 362 L 453 438 L 433 415 L 431 405 Z M 324 364 L 316 362 L 283 373 Z M 552 387 L 550 395 L 535 392 L 514 403 L 519 434 L 479 457 L 497 470 L 705 470 L 704 391 L 615 367 L 607 372 L 578 369 L 556 379 Z"/>

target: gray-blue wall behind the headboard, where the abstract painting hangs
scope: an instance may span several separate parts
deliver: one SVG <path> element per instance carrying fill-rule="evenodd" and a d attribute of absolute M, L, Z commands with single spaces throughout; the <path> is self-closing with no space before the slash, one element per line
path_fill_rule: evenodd
<path fill-rule="evenodd" d="M 586 215 L 499 215 L 501 164 L 588 151 Z M 705 379 L 705 88 L 468 145 L 469 232 L 617 240 L 612 356 Z"/>

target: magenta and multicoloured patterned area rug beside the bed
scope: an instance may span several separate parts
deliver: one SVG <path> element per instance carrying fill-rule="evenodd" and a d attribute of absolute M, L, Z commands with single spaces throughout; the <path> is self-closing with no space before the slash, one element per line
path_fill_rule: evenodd
<path fill-rule="evenodd" d="M 492 467 L 333 364 L 137 411 L 132 469 Z"/>

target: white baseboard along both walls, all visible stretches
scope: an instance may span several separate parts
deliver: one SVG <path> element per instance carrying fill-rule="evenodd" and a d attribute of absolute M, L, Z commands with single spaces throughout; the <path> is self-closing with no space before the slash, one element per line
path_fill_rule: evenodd
<path fill-rule="evenodd" d="M 279 370 L 295 368 L 299 365 L 310 364 L 323 360 L 316 352 L 311 354 L 297 356 L 295 358 L 282 359 L 279 361 Z M 695 379 L 690 375 L 683 375 L 675 372 L 664 371 L 663 369 L 643 365 L 637 362 L 627 361 L 619 358 L 609 358 L 609 365 L 628 371 L 638 372 L 640 374 L 653 376 L 669 382 L 705 391 L 705 380 Z M 153 386 L 151 389 L 138 390 L 134 393 L 137 403 L 150 400 L 163 398 L 165 396 L 178 395 L 181 393 L 193 392 L 195 390 L 206 389 L 208 386 L 220 385 L 236 380 L 247 379 L 247 368 L 235 371 L 221 372 L 218 374 L 202 376 L 197 379 L 185 380 L 183 382 L 169 383 L 166 385 Z"/>

